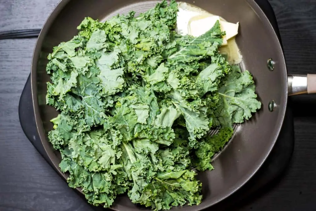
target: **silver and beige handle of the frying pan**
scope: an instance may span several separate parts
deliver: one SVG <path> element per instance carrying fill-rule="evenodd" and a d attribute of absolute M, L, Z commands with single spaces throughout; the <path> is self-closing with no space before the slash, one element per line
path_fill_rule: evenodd
<path fill-rule="evenodd" d="M 288 95 L 316 93 L 316 74 L 288 75 Z"/>

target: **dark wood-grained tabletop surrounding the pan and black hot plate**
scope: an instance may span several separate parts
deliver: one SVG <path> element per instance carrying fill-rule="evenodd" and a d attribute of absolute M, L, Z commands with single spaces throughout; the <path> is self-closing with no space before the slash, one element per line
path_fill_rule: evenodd
<path fill-rule="evenodd" d="M 0 0 L 0 31 L 41 28 L 58 1 Z M 289 72 L 316 72 L 316 1 L 270 3 Z M 91 210 L 40 156 L 20 126 L 18 102 L 30 73 L 35 41 L 0 40 L 0 210 Z M 295 151 L 289 168 L 268 192 L 236 210 L 306 210 L 315 205 L 316 97 L 299 97 L 294 104 Z"/>

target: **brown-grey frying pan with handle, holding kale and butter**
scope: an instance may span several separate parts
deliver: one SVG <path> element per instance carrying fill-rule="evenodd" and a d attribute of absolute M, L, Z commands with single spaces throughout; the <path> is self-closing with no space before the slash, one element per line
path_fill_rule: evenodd
<path fill-rule="evenodd" d="M 264 163 L 278 138 L 287 107 L 288 95 L 314 93 L 314 75 L 287 75 L 280 41 L 264 12 L 253 0 L 183 0 L 225 18 L 240 22 L 236 42 L 243 55 L 243 69 L 249 70 L 256 83 L 262 108 L 250 121 L 235 130 L 232 140 L 213 161 L 215 170 L 198 174 L 203 184 L 203 201 L 197 206 L 176 207 L 172 210 L 202 210 L 222 201 L 244 185 Z M 58 115 L 45 101 L 47 55 L 52 47 L 70 40 L 76 27 L 86 16 L 101 21 L 118 13 L 134 10 L 144 12 L 157 1 L 144 0 L 61 0 L 46 20 L 37 40 L 32 60 L 31 84 L 35 119 L 41 142 L 53 166 L 60 171 L 60 153 L 47 140 L 52 130 L 50 120 Z M 137 15 L 137 14 L 136 14 Z M 80 191 L 80 189 L 78 189 Z M 130 202 L 127 196 L 115 200 L 114 210 L 146 210 Z"/>

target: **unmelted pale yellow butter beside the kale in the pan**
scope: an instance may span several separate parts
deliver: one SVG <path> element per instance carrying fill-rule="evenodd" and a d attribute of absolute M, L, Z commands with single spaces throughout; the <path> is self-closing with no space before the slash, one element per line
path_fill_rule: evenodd
<path fill-rule="evenodd" d="M 221 30 L 226 32 L 222 45 L 227 45 L 227 40 L 238 34 L 239 23 L 223 21 L 220 16 L 194 16 L 188 23 L 188 34 L 198 37 L 210 30 L 216 21 L 220 22 Z"/>

